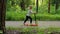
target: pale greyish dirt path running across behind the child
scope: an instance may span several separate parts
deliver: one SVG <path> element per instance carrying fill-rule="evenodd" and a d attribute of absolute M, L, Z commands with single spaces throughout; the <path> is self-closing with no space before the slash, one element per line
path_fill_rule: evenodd
<path fill-rule="evenodd" d="M 6 27 L 22 27 L 23 21 L 6 21 L 5 25 Z M 60 21 L 38 21 L 38 27 L 60 27 Z"/>

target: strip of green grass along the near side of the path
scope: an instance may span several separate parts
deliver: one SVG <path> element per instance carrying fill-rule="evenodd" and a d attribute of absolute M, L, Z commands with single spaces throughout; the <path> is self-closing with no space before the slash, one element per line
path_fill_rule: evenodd
<path fill-rule="evenodd" d="M 53 31 L 60 31 L 60 27 L 48 27 L 48 28 L 40 28 L 40 27 L 25 27 L 25 28 L 16 28 L 16 27 L 6 27 L 7 30 L 19 30 L 22 32 L 31 32 L 33 30 L 37 31 L 37 34 L 51 33 Z M 47 31 L 47 32 L 46 32 Z M 31 32 L 33 33 L 33 32 Z"/>

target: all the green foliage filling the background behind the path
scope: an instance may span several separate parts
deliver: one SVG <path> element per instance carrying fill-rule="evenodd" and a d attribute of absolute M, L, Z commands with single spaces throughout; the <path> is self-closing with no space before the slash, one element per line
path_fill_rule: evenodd
<path fill-rule="evenodd" d="M 14 1 L 14 4 L 12 6 L 12 1 Z M 21 10 L 21 7 L 19 6 L 20 2 L 22 0 L 7 0 L 6 4 L 6 20 L 24 20 L 27 10 L 23 11 Z M 9 2 L 9 3 L 8 3 Z M 35 0 L 24 0 L 26 6 L 32 4 L 33 11 L 36 11 L 36 5 Z M 28 3 L 27 3 L 28 2 Z M 51 0 L 53 2 L 53 0 Z M 38 6 L 38 13 L 36 15 L 37 20 L 60 20 L 60 7 L 57 10 L 57 13 L 55 11 L 55 6 L 50 6 L 50 14 L 48 13 L 48 0 L 43 0 L 43 4 L 41 3 L 41 0 L 39 1 Z M 26 8 L 25 8 L 26 9 Z M 34 15 L 31 16 L 34 18 Z"/>

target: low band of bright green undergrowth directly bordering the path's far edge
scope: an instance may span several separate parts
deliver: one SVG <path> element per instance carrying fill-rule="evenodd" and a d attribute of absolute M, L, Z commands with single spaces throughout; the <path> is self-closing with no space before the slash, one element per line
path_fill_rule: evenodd
<path fill-rule="evenodd" d="M 7 12 L 6 13 L 6 20 L 24 20 L 26 15 L 26 11 L 20 11 L 20 12 Z M 34 15 L 31 16 L 33 18 L 33 20 L 35 20 Z M 36 19 L 37 20 L 60 20 L 60 16 L 59 14 L 48 14 L 48 13 L 44 13 L 44 14 L 36 14 Z"/>

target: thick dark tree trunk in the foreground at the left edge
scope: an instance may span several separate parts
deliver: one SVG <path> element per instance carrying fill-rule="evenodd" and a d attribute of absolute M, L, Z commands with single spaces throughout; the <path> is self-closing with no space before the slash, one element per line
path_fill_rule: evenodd
<path fill-rule="evenodd" d="M 1 24 L 1 30 L 3 31 L 3 34 L 5 34 L 5 10 L 6 10 L 6 0 L 0 0 L 0 24 Z"/>

